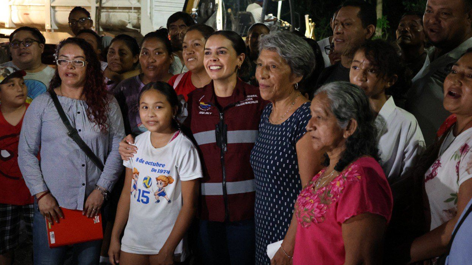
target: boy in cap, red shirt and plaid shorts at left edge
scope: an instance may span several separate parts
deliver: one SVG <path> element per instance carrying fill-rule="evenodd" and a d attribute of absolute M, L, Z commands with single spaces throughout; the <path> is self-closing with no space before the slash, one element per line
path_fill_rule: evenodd
<path fill-rule="evenodd" d="M 20 216 L 32 238 L 33 197 L 18 167 L 18 141 L 28 88 L 25 71 L 0 68 L 0 264 L 13 263 L 19 243 Z"/>

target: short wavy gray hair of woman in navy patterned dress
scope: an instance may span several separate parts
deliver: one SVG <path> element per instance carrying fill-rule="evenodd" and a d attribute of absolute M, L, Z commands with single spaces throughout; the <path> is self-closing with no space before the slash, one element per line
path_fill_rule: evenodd
<path fill-rule="evenodd" d="M 315 68 L 315 53 L 308 43 L 289 31 L 272 31 L 259 39 L 262 50 L 276 51 L 297 76 L 307 78 Z"/>

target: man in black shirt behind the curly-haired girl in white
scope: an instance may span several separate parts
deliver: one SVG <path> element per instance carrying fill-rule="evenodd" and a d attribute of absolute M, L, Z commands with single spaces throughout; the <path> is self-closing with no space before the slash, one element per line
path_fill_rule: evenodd
<path fill-rule="evenodd" d="M 334 81 L 349 82 L 354 53 L 374 36 L 377 25 L 375 7 L 363 0 L 348 0 L 342 4 L 333 24 L 334 53 L 341 54 L 341 61 L 324 69 L 316 87 Z"/>

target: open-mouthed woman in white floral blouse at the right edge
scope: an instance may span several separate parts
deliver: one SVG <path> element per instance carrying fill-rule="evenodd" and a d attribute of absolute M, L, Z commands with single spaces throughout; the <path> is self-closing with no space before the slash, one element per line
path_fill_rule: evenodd
<path fill-rule="evenodd" d="M 426 154 L 429 169 L 423 175 L 430 212 L 430 232 L 414 239 L 410 261 L 441 256 L 447 251 L 452 231 L 472 198 L 472 50 L 452 66 L 444 80 L 444 108 L 453 113 Z M 423 158 L 422 160 L 428 160 Z M 424 171 L 423 171 L 424 173 Z M 408 252 L 408 251 L 407 251 Z"/>

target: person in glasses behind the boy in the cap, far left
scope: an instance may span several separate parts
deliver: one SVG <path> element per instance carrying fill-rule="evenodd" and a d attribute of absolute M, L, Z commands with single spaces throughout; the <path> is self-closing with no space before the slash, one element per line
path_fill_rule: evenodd
<path fill-rule="evenodd" d="M 34 27 L 19 27 L 10 34 L 10 53 L 12 60 L 1 67 L 14 67 L 26 72 L 24 77 L 28 87 L 27 103 L 46 92 L 55 70 L 41 62 L 46 39 Z"/>

